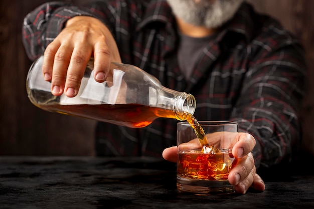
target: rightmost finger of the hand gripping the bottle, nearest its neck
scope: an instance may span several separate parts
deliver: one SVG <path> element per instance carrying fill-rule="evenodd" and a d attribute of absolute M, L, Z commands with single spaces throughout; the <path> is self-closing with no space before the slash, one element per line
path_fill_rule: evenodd
<path fill-rule="evenodd" d="M 95 45 L 94 50 L 94 79 L 97 82 L 104 82 L 110 72 L 112 54 L 108 46 L 102 42 Z"/>

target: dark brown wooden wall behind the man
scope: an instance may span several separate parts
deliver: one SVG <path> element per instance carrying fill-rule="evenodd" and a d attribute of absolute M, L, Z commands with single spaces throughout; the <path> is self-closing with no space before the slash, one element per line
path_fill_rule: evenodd
<path fill-rule="evenodd" d="M 277 18 L 306 49 L 310 88 L 303 107 L 304 147 L 314 153 L 314 1 L 248 1 L 257 11 Z M 27 97 L 26 76 L 31 61 L 22 44 L 22 23 L 44 2 L 0 1 L 0 155 L 94 155 L 95 121 L 43 111 Z"/>

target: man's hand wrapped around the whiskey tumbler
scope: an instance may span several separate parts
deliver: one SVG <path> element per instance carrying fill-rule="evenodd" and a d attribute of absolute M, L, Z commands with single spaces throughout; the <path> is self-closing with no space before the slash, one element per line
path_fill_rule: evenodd
<path fill-rule="evenodd" d="M 256 173 L 254 158 L 251 153 L 255 146 L 255 139 L 248 133 L 238 133 L 238 142 L 233 146 L 232 155 L 237 160 L 237 165 L 231 169 L 228 180 L 235 186 L 238 193 L 244 194 L 249 187 L 257 191 L 265 190 L 265 183 Z M 166 148 L 163 157 L 171 162 L 177 162 L 177 146 Z"/>

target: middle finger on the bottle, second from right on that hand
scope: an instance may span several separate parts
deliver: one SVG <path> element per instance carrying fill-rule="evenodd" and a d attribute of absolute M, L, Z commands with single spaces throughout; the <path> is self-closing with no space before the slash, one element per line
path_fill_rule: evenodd
<path fill-rule="evenodd" d="M 64 91 L 65 95 L 68 97 L 77 95 L 86 70 L 86 65 L 91 55 L 91 50 L 84 50 L 84 48 L 79 49 L 79 51 L 76 50 L 73 52 L 67 71 Z"/>

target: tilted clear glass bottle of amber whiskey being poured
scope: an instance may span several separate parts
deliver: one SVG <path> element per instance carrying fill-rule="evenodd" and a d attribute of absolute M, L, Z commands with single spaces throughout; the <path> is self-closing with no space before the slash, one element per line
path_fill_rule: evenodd
<path fill-rule="evenodd" d="M 98 83 L 93 77 L 93 63 L 91 59 L 86 67 L 77 96 L 70 98 L 51 93 L 51 83 L 43 78 L 43 57 L 38 58 L 27 76 L 29 99 L 50 112 L 132 128 L 147 126 L 158 117 L 186 120 L 193 116 L 193 95 L 166 88 L 145 71 L 122 63 L 111 63 L 112 73 Z"/>

